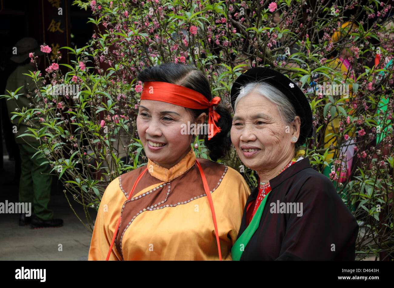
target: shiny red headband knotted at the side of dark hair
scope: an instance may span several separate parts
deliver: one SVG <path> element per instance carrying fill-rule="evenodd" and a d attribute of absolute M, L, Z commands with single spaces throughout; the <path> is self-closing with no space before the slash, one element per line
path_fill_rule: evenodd
<path fill-rule="evenodd" d="M 210 102 L 206 97 L 193 90 L 180 85 L 167 82 L 145 82 L 141 93 L 141 100 L 156 100 L 171 103 L 190 109 L 207 109 L 208 115 L 208 140 L 219 133 L 220 127 L 216 126 L 220 115 L 214 110 L 214 106 L 219 104 L 220 98 L 214 97 Z M 212 131 L 210 128 L 212 127 Z"/>

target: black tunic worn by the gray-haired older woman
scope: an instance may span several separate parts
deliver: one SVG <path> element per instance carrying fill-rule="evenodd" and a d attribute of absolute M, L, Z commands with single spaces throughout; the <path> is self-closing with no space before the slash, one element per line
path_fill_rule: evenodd
<path fill-rule="evenodd" d="M 330 179 L 313 170 L 309 159 L 292 164 L 269 183 L 272 190 L 266 196 L 260 224 L 240 260 L 355 260 L 357 221 Z M 255 188 L 247 199 L 238 238 L 247 227 L 254 203 L 248 211 L 247 207 L 257 194 Z M 302 216 L 276 213 L 271 203 L 276 206 L 278 200 L 299 207 L 303 203 Z"/>

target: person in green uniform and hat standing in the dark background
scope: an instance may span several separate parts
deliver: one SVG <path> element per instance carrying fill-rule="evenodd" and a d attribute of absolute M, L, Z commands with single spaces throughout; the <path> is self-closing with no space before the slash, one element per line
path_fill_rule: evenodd
<path fill-rule="evenodd" d="M 15 114 L 12 112 L 20 111 L 23 107 L 30 109 L 33 105 L 31 97 L 34 97 L 35 83 L 33 78 L 24 75 L 30 74 L 30 70 L 35 71 L 35 63 L 30 62 L 30 53 L 41 56 L 44 53 L 40 51 L 37 41 L 30 37 L 20 39 L 14 47 L 16 54 L 10 59 L 15 63 L 19 63 L 17 68 L 11 73 L 7 79 L 5 94 L 7 92 L 15 92 L 22 87 L 16 94 L 19 96 L 6 101 L 9 119 Z M 14 48 L 14 49 L 15 49 Z M 37 58 L 39 64 L 41 57 Z M 31 133 L 28 130 L 30 121 L 34 126 L 39 126 L 37 119 L 30 119 L 28 122 L 24 120 L 19 123 L 19 116 L 14 117 L 11 122 L 13 124 L 13 133 L 15 142 L 19 146 L 21 163 L 21 174 L 19 181 L 19 202 L 32 203 L 33 213 L 31 216 L 20 214 L 19 225 L 24 226 L 31 223 L 32 228 L 42 227 L 58 227 L 63 225 L 63 220 L 53 219 L 53 211 L 48 209 L 50 200 L 50 188 L 52 184 L 52 175 L 50 175 L 50 165 L 48 163 L 41 165 L 45 158 L 37 153 L 40 142 L 33 137 L 19 137 L 24 133 Z"/>

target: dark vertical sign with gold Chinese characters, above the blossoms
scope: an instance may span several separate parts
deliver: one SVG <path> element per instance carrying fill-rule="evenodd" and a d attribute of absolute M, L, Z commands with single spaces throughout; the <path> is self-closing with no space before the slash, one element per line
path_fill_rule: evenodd
<path fill-rule="evenodd" d="M 48 60 L 45 58 L 45 68 L 51 65 L 52 60 L 56 60 L 58 56 L 61 56 L 58 61 L 59 64 L 69 64 L 68 50 L 61 49 L 62 51 L 59 51 L 60 47 L 69 46 L 71 42 L 69 0 L 41 0 L 41 5 L 43 11 L 43 39 L 46 45 L 52 49 L 48 55 L 51 62 L 47 63 Z M 59 69 L 65 73 L 68 68 L 59 65 Z"/>

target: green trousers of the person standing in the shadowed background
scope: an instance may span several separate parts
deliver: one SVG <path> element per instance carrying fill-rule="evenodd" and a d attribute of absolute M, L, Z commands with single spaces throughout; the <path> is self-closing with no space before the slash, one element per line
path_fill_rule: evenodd
<path fill-rule="evenodd" d="M 30 143 L 34 148 L 38 148 L 38 143 Z M 53 217 L 53 211 L 48 209 L 50 200 L 50 188 L 52 185 L 52 175 L 48 163 L 40 164 L 46 161 L 36 149 L 29 144 L 18 144 L 20 150 L 20 181 L 19 181 L 19 202 L 32 203 L 33 212 L 42 220 L 50 220 Z M 40 157 L 40 158 L 39 158 Z"/>

